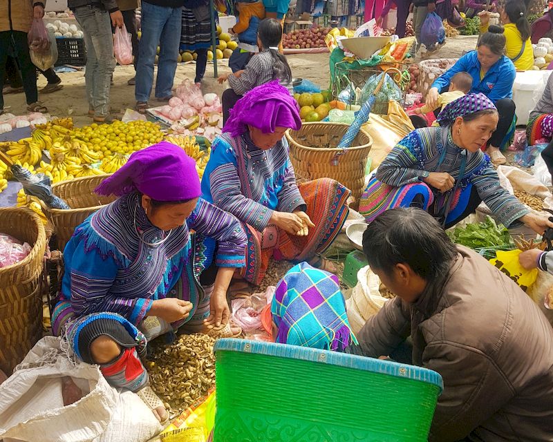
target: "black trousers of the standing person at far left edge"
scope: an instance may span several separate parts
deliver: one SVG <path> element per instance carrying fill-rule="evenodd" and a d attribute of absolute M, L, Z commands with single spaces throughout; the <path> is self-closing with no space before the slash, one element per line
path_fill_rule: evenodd
<path fill-rule="evenodd" d="M 26 32 L 19 32 L 17 30 L 0 32 L 0 84 L 4 84 L 4 79 L 6 77 L 6 60 L 8 59 L 10 45 L 12 45 L 15 50 L 15 57 L 21 68 L 27 104 L 35 103 L 39 99 L 37 90 L 37 68 L 35 68 L 35 65 L 30 61 Z M 0 109 L 3 109 L 3 107 L 4 99 L 2 93 L 0 93 Z"/>

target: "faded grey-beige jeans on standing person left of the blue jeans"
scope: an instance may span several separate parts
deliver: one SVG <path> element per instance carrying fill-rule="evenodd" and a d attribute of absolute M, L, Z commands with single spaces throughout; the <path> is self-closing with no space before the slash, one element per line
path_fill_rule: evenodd
<path fill-rule="evenodd" d="M 75 19 L 84 32 L 88 107 L 94 110 L 95 117 L 106 117 L 109 115 L 111 75 L 115 69 L 111 18 L 109 12 L 97 6 L 81 6 L 75 9 Z"/>

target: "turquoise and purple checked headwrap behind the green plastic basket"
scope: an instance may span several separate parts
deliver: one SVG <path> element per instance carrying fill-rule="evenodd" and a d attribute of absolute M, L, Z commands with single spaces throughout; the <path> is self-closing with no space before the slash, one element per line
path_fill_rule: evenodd
<path fill-rule="evenodd" d="M 271 304 L 276 342 L 343 351 L 357 339 L 350 329 L 338 278 L 301 262 L 277 285 Z"/>

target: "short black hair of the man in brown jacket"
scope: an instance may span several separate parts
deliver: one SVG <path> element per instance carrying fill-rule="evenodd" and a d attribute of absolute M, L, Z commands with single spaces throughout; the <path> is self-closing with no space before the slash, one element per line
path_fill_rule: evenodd
<path fill-rule="evenodd" d="M 458 253 L 438 221 L 414 207 L 385 211 L 368 224 L 363 251 L 374 269 L 391 273 L 406 264 L 426 281 L 445 276 Z"/>

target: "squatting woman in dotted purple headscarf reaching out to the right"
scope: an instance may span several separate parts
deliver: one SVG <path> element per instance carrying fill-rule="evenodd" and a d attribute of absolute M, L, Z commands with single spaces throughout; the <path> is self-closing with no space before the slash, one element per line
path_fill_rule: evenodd
<path fill-rule="evenodd" d="M 540 234 L 553 227 L 500 186 L 489 157 L 480 150 L 498 119 L 496 106 L 483 94 L 448 104 L 436 120 L 440 127 L 417 129 L 392 149 L 368 183 L 359 212 L 372 222 L 388 209 L 415 206 L 447 229 L 483 201 L 505 227 L 526 224 Z"/>

